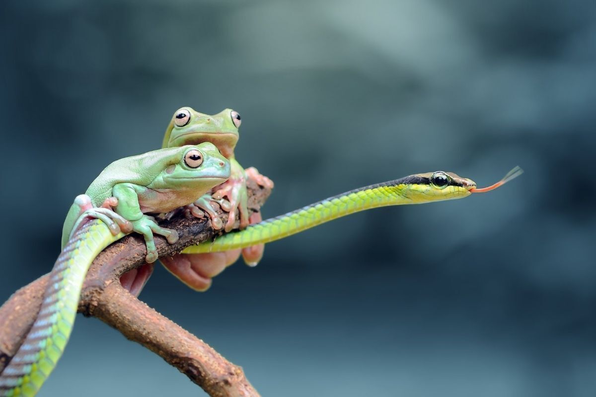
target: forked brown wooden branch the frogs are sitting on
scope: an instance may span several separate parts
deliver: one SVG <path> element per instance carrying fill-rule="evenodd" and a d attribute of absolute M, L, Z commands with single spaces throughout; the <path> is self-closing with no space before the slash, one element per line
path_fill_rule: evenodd
<path fill-rule="evenodd" d="M 257 186 L 250 179 L 248 187 L 249 209 L 251 212 L 259 211 L 271 191 Z M 225 224 L 226 214 L 221 216 Z M 164 221 L 162 226 L 175 229 L 180 238 L 170 245 L 156 236 L 159 257 L 176 254 L 193 243 L 218 235 L 207 226 L 205 218 L 175 218 Z M 104 249 L 95 258 L 85 279 L 79 312 L 99 318 L 128 339 L 150 349 L 210 396 L 259 396 L 242 368 L 123 289 L 120 276 L 144 264 L 145 254 L 144 240 L 136 235 L 126 236 Z M 47 280 L 47 275 L 42 276 L 24 286 L 0 307 L 0 371 L 13 357 L 32 326 L 41 307 Z"/>

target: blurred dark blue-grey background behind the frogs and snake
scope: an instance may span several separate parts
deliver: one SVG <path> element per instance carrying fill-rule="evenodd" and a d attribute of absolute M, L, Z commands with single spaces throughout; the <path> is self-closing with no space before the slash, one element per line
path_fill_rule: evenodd
<path fill-rule="evenodd" d="M 73 198 L 189 105 L 242 115 L 265 217 L 447 170 L 486 195 L 267 246 L 141 299 L 263 396 L 596 393 L 596 8 L 589 1 L 4 1 L 0 301 L 49 271 Z M 93 374 L 100 374 L 101 378 Z M 204 395 L 80 317 L 40 396 Z"/>

